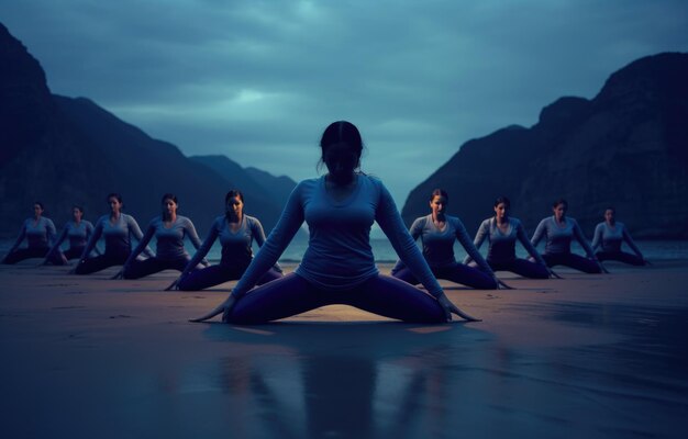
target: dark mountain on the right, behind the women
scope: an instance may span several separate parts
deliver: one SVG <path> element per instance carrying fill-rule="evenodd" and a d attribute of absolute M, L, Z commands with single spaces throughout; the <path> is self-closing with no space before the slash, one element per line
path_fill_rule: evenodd
<path fill-rule="evenodd" d="M 532 233 L 558 198 L 590 237 L 613 205 L 636 237 L 688 238 L 688 54 L 641 58 L 592 100 L 562 98 L 530 128 L 465 143 L 407 199 L 407 223 L 429 213 L 434 188 L 473 233 L 507 195 Z"/>

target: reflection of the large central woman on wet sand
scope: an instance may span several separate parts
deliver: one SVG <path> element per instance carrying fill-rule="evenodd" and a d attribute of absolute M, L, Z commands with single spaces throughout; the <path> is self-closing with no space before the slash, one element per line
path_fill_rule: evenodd
<path fill-rule="evenodd" d="M 217 326 L 210 337 L 231 337 Z M 426 415 L 444 424 L 446 368 L 458 361 L 451 341 L 460 340 L 452 333 L 465 330 L 418 329 L 393 323 L 270 325 L 263 335 L 242 337 L 249 348 L 236 346 L 235 356 L 220 361 L 217 382 L 232 394 L 249 392 L 248 405 L 238 409 L 259 407 L 245 416 L 266 437 L 407 437 L 423 428 L 418 424 Z M 246 351 L 260 352 L 251 371 L 244 368 Z"/>

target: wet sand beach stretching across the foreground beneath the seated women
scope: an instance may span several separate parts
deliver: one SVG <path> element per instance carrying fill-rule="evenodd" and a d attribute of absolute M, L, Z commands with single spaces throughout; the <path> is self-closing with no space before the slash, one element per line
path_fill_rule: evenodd
<path fill-rule="evenodd" d="M 608 268 L 443 283 L 481 323 L 329 306 L 238 327 L 187 322 L 232 283 L 0 266 L 2 436 L 683 438 L 688 261 Z"/>

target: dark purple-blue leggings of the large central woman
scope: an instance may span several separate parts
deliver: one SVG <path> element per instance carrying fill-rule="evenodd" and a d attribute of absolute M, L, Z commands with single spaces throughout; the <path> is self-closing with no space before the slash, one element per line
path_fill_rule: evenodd
<path fill-rule="evenodd" d="M 408 323 L 442 323 L 445 313 L 431 295 L 389 275 L 377 274 L 346 291 L 324 290 L 290 273 L 249 291 L 236 302 L 228 322 L 255 325 L 325 305 L 351 305 Z"/>

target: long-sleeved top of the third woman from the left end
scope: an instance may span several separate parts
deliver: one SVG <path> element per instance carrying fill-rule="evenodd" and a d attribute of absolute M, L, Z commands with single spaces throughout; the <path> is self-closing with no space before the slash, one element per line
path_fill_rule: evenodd
<path fill-rule="evenodd" d="M 143 238 L 141 228 L 138 228 L 138 224 L 133 216 L 121 213 L 118 221 L 112 224 L 109 214 L 102 215 L 98 218 L 98 222 L 96 222 L 93 234 L 81 254 L 81 259 L 88 257 L 101 235 L 106 238 L 106 255 L 129 254 L 132 248 L 131 236 L 133 235 L 138 240 Z M 146 247 L 144 252 L 148 256 L 153 256 L 153 251 L 148 247 Z"/>

